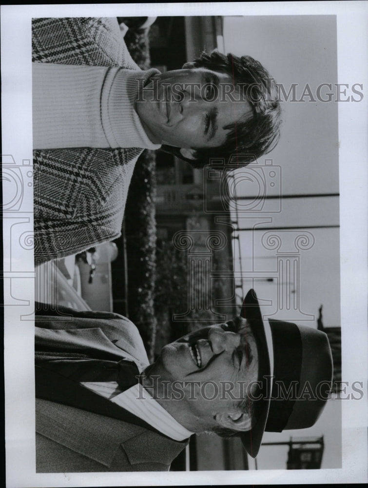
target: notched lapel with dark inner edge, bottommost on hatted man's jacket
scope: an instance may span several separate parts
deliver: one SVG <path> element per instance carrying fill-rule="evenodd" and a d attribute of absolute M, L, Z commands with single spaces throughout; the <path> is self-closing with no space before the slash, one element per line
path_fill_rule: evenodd
<path fill-rule="evenodd" d="M 110 466 L 120 444 L 131 464 L 170 464 L 187 444 L 173 441 L 124 408 L 40 366 L 36 366 L 36 397 L 37 432 L 105 466 Z"/>

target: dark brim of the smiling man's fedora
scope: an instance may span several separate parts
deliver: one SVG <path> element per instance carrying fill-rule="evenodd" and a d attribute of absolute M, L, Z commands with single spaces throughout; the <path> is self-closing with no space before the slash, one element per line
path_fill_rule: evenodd
<path fill-rule="evenodd" d="M 254 402 L 256 423 L 251 430 L 242 432 L 239 437 L 248 454 L 255 458 L 261 446 L 271 403 L 271 376 L 273 372 L 273 346 L 271 329 L 266 329 L 262 320 L 257 295 L 253 289 L 247 293 L 240 316 L 247 319 L 258 349 L 258 381 L 262 382 L 262 399 Z M 266 327 L 269 327 L 267 324 Z"/>

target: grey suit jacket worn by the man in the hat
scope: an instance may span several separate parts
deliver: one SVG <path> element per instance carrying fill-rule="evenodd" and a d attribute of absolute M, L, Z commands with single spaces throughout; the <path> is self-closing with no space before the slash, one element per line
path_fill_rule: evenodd
<path fill-rule="evenodd" d="M 36 316 L 36 350 L 93 348 L 148 365 L 136 326 L 107 312 L 76 312 L 73 317 Z M 36 379 L 37 381 L 37 379 Z M 154 429 L 99 413 L 36 399 L 37 472 L 165 471 L 187 445 Z"/>

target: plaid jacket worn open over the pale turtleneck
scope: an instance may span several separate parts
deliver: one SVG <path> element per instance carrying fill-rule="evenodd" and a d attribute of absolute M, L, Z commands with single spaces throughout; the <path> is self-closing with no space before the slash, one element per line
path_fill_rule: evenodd
<path fill-rule="evenodd" d="M 139 70 L 115 18 L 34 19 L 32 61 Z M 120 236 L 140 148 L 33 152 L 35 261 L 82 252 Z"/>

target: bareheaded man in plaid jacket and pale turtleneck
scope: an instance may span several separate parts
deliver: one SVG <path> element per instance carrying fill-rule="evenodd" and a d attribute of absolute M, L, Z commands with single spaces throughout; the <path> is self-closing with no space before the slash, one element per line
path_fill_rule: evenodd
<path fill-rule="evenodd" d="M 35 257 L 76 254 L 119 237 L 144 148 L 195 167 L 239 165 L 277 143 L 274 80 L 258 62 L 214 52 L 181 70 L 141 71 L 116 19 L 35 19 Z"/>

